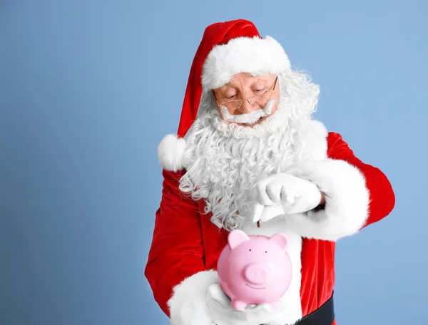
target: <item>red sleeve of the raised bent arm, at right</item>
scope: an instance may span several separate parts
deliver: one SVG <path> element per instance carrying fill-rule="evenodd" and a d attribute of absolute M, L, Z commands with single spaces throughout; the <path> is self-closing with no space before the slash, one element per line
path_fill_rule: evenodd
<path fill-rule="evenodd" d="M 357 167 L 365 177 L 367 190 L 370 192 L 369 217 L 363 227 L 378 222 L 389 215 L 395 205 L 392 186 L 377 167 L 367 165 L 355 157 L 348 144 L 338 133 L 329 133 L 327 137 L 327 156 L 336 160 L 345 160 Z"/>

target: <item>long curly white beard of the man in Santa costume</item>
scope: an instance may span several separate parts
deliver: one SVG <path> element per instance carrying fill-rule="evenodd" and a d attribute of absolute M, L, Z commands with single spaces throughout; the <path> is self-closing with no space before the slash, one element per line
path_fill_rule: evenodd
<path fill-rule="evenodd" d="M 317 105 L 319 88 L 305 75 L 278 76 L 277 110 L 253 127 L 220 118 L 210 92 L 203 93 L 198 118 L 185 136 L 186 173 L 180 190 L 205 200 L 205 212 L 218 227 L 237 229 L 251 217 L 251 190 L 258 180 L 302 160 L 300 134 Z"/>

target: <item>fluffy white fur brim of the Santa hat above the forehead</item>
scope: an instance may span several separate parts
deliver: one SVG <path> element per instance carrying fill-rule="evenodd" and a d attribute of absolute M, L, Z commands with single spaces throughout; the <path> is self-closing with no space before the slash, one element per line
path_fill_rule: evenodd
<path fill-rule="evenodd" d="M 236 73 L 260 76 L 289 70 L 288 56 L 274 38 L 238 37 L 210 51 L 203 64 L 202 84 L 209 90 L 224 86 Z"/>

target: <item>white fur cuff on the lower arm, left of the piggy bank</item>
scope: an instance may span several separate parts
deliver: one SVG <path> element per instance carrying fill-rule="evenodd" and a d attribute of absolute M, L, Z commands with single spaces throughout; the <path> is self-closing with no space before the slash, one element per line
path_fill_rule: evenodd
<path fill-rule="evenodd" d="M 173 289 L 168 300 L 171 325 L 212 325 L 206 295 L 211 284 L 218 283 L 217 272 L 198 272 L 184 279 Z"/>

